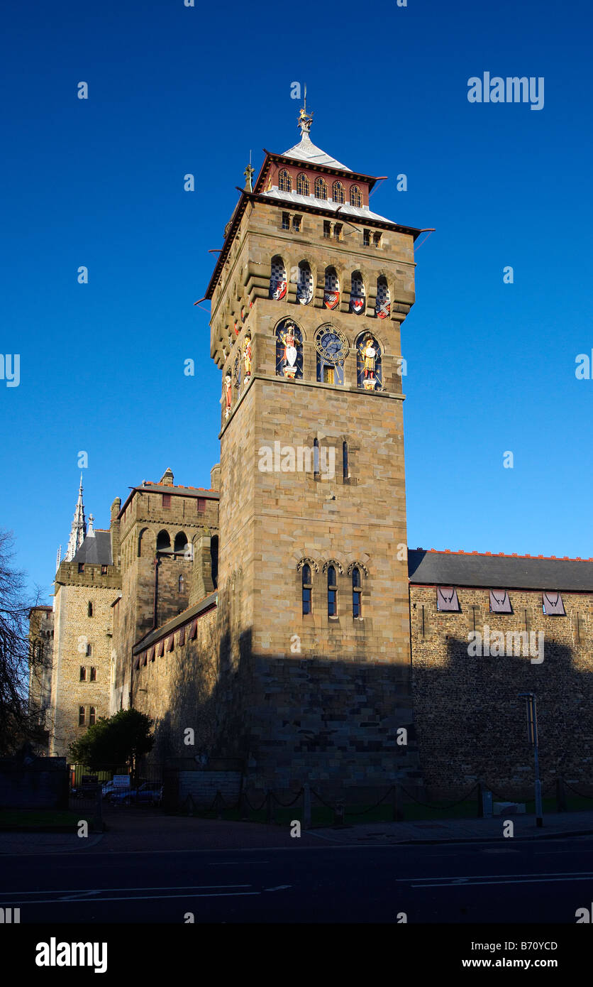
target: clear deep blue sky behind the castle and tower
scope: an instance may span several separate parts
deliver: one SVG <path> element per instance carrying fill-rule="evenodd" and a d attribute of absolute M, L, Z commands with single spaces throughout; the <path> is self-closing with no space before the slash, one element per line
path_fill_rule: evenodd
<path fill-rule="evenodd" d="M 167 466 L 209 486 L 220 371 L 192 303 L 250 149 L 259 170 L 298 140 L 293 81 L 315 143 L 390 176 L 372 207 L 436 228 L 403 329 L 408 544 L 593 556 L 593 380 L 574 372 L 593 348 L 590 4 L 196 4 L 4 16 L 0 351 L 21 383 L 0 380 L 0 526 L 18 564 L 50 600 L 79 450 L 98 527 Z M 484 71 L 544 77 L 544 109 L 470 104 Z"/>

